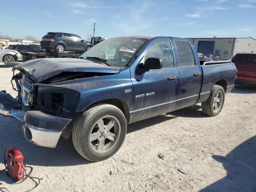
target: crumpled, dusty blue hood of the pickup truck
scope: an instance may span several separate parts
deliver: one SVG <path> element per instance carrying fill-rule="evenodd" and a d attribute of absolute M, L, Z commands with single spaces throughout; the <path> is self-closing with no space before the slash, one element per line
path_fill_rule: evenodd
<path fill-rule="evenodd" d="M 62 72 L 118 73 L 120 69 L 99 64 L 90 60 L 73 58 L 34 59 L 18 64 L 12 70 L 23 70 L 34 80 L 41 82 Z"/>

